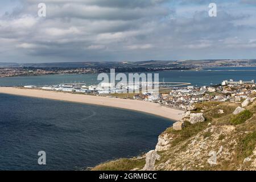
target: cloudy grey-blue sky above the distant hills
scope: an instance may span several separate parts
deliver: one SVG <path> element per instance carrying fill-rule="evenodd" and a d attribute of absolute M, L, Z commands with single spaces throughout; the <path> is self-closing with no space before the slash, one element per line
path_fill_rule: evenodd
<path fill-rule="evenodd" d="M 256 59 L 256 0 L 0 2 L 0 62 L 191 59 Z"/>

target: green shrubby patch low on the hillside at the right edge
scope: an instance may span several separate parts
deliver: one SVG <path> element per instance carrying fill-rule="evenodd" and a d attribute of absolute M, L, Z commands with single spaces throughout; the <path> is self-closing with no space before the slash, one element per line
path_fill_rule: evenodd
<path fill-rule="evenodd" d="M 256 131 L 249 133 L 245 137 L 241 138 L 237 145 L 237 158 L 243 160 L 253 154 L 255 144 Z"/>

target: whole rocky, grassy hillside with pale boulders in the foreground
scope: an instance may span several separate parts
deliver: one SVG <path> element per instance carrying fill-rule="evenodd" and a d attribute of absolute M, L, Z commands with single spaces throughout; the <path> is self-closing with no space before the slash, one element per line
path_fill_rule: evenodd
<path fill-rule="evenodd" d="M 191 124 L 193 113 L 205 120 Z M 93 170 L 256 170 L 255 144 L 256 100 L 204 102 L 184 115 L 182 130 L 164 131 L 154 151 Z"/>

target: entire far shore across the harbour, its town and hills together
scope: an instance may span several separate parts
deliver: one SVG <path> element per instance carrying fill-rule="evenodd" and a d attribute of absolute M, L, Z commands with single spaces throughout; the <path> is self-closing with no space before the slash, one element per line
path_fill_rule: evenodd
<path fill-rule="evenodd" d="M 199 71 L 212 68 L 255 67 L 256 60 L 96 61 L 80 63 L 1 63 L 0 77 L 116 72 Z"/>

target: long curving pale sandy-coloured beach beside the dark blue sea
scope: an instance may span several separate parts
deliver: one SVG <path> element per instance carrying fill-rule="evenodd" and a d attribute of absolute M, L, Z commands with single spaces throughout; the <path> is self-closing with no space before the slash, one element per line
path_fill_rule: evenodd
<path fill-rule="evenodd" d="M 121 109 L 134 110 L 142 113 L 153 114 L 174 121 L 178 121 L 179 119 L 181 119 L 182 114 L 184 113 L 184 111 L 164 107 L 153 102 L 139 100 L 123 100 L 122 98 L 88 96 L 82 94 L 72 94 L 37 89 L 20 89 L 14 87 L 0 87 L 0 93 L 11 94 L 16 96 L 46 98 L 50 100 L 78 102 L 82 104 L 117 107 Z"/>

